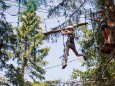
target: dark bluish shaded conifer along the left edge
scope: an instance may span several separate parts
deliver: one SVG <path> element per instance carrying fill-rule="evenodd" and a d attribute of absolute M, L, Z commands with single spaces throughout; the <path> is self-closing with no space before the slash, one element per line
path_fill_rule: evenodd
<path fill-rule="evenodd" d="M 14 51 L 16 46 L 16 36 L 13 34 L 13 28 L 6 21 L 4 11 L 8 7 L 3 0 L 0 1 L 1 13 L 0 13 L 0 69 L 7 67 L 7 62 L 10 59 L 8 55 L 9 51 Z"/>

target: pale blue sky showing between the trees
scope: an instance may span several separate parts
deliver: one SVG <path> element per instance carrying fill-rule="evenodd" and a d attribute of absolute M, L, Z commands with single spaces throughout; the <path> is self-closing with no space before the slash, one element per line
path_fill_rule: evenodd
<path fill-rule="evenodd" d="M 12 2 L 10 2 L 10 3 L 14 4 Z M 11 15 L 9 15 L 9 13 L 10 14 L 17 13 L 18 8 L 14 6 L 12 9 L 13 9 L 12 11 L 11 11 L 11 9 L 6 11 L 6 19 L 8 22 L 17 22 L 17 20 L 18 20 L 17 16 L 11 16 Z M 47 16 L 46 13 L 36 12 L 36 14 L 41 17 L 42 21 L 44 21 L 43 19 L 46 19 L 46 16 Z M 53 28 L 53 27 L 59 25 L 57 19 L 60 21 L 60 23 L 65 21 L 64 17 L 46 19 L 45 22 L 46 22 L 47 30 L 50 30 L 50 28 Z M 12 23 L 12 26 L 17 26 L 17 23 Z M 45 23 L 42 23 L 41 27 L 44 29 L 44 31 L 46 31 Z M 45 60 L 48 61 L 48 63 L 49 63 L 44 68 L 44 69 L 46 69 L 46 74 L 45 74 L 46 81 L 47 80 L 57 80 L 57 79 L 60 79 L 62 81 L 67 81 L 67 80 L 71 79 L 70 76 L 72 74 L 73 69 L 79 69 L 82 71 L 86 70 L 86 67 L 81 66 L 82 62 L 84 62 L 83 58 L 76 57 L 75 54 L 71 50 L 69 52 L 68 62 L 72 61 L 72 60 L 76 60 L 76 61 L 68 63 L 68 66 L 65 69 L 62 69 L 62 66 L 49 68 L 49 67 L 53 67 L 56 65 L 60 65 L 62 63 L 62 59 L 59 59 L 59 57 L 63 55 L 63 40 L 62 39 L 63 39 L 62 36 L 60 36 L 56 43 L 52 44 L 51 42 L 50 43 L 45 42 L 45 44 L 44 44 L 44 46 L 50 47 L 48 56 L 45 57 Z M 66 42 L 66 37 L 65 37 L 64 42 Z M 80 52 L 80 45 L 77 43 L 77 41 L 75 41 L 75 45 L 76 45 L 76 49 L 78 50 L 78 52 Z M 0 71 L 0 73 L 4 74 L 3 71 L 2 72 Z M 28 77 L 25 77 L 25 79 L 31 80 Z"/>

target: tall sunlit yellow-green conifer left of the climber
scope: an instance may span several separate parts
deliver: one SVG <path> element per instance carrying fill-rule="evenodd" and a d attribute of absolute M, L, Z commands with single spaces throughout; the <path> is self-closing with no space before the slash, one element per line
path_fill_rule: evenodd
<path fill-rule="evenodd" d="M 46 61 L 43 61 L 43 58 L 47 55 L 49 48 L 40 48 L 43 44 L 43 31 L 42 28 L 39 27 L 40 18 L 35 15 L 34 2 L 29 2 L 29 9 L 24 15 L 20 17 L 22 22 L 22 27 L 19 28 L 18 31 L 18 39 L 19 39 L 19 61 L 22 64 L 22 72 L 25 73 L 26 70 L 29 71 L 29 76 L 36 81 L 36 78 L 42 80 L 44 79 L 43 75 L 45 73 L 42 68 Z M 33 11 L 32 11 L 33 10 Z M 36 52 L 34 51 L 36 49 Z M 36 53 L 36 62 L 34 61 Z M 29 63 L 29 64 L 28 64 Z M 22 73 L 23 77 L 24 74 Z"/>

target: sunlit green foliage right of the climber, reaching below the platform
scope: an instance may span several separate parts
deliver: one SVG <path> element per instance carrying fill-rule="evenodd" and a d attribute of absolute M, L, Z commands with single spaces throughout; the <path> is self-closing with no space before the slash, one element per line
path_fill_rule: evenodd
<path fill-rule="evenodd" d="M 95 28 L 95 29 L 94 29 Z M 85 72 L 81 70 L 73 70 L 72 78 L 79 78 L 81 80 L 95 80 L 100 86 L 111 86 L 114 84 L 114 65 L 115 61 L 112 59 L 110 62 L 109 55 L 101 55 L 100 49 L 104 43 L 100 28 L 93 23 L 92 29 L 81 29 L 83 32 L 83 38 L 80 44 L 83 46 L 83 50 L 90 57 L 87 62 L 84 62 L 82 66 L 86 66 Z M 105 66 L 106 65 L 106 66 Z M 96 86 L 98 86 L 96 85 Z M 90 86 L 90 85 L 89 85 Z M 95 86 L 94 84 L 91 86 Z"/>

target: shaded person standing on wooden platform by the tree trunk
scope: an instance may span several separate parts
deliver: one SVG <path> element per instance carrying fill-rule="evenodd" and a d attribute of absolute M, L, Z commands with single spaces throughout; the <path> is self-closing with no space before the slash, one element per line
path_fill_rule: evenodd
<path fill-rule="evenodd" d="M 110 43 L 110 30 L 108 26 L 108 17 L 105 15 L 105 11 L 100 9 L 100 18 L 97 20 L 100 23 L 100 28 L 102 30 L 102 35 L 106 43 Z"/>

